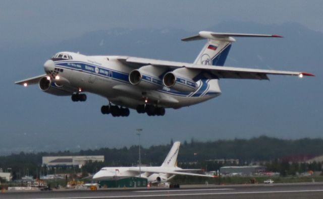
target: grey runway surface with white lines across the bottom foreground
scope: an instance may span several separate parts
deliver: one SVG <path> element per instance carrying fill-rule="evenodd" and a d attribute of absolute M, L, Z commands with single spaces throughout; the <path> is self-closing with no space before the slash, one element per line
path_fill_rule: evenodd
<path fill-rule="evenodd" d="M 322 183 L 266 185 L 197 185 L 181 189 L 53 190 L 0 193 L 0 198 L 323 198 Z M 194 188 L 195 187 L 195 188 Z"/>

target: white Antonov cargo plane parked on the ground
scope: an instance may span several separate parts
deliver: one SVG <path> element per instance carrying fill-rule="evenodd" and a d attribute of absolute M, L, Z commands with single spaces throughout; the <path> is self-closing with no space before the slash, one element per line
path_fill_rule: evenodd
<path fill-rule="evenodd" d="M 148 182 L 164 183 L 175 177 L 175 175 L 217 177 L 212 175 L 189 173 L 194 171 L 201 171 L 200 169 L 182 169 L 177 167 L 177 155 L 180 149 L 180 145 L 180 142 L 174 143 L 163 164 L 161 164 L 161 166 L 159 167 L 103 167 L 100 171 L 94 174 L 92 179 L 99 181 L 140 176 L 147 178 Z"/>

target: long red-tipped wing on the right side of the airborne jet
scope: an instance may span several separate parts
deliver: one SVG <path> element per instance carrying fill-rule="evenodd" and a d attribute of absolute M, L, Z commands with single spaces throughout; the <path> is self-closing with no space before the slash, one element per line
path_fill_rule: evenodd
<path fill-rule="evenodd" d="M 261 69 L 248 69 L 236 67 L 219 67 L 216 65 L 202 65 L 177 61 L 165 61 L 157 59 L 146 59 L 138 57 L 120 57 L 119 61 L 130 65 L 133 68 L 140 68 L 143 65 L 154 65 L 156 67 L 166 67 L 170 70 L 178 68 L 187 68 L 191 70 L 200 71 L 216 76 L 219 79 L 255 79 L 255 80 L 268 80 L 267 75 L 288 75 L 288 76 L 314 76 L 310 73 L 291 72 L 291 71 L 275 71 L 275 70 L 261 70 Z"/>

